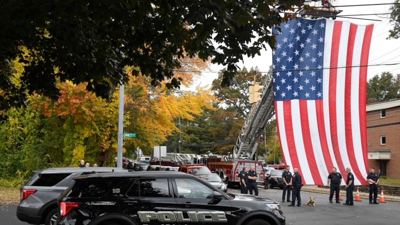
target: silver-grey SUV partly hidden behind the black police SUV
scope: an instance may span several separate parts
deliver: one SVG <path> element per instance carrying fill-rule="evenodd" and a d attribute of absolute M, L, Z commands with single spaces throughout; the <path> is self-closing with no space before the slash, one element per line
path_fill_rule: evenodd
<path fill-rule="evenodd" d="M 16 217 L 30 224 L 55 224 L 57 197 L 74 180 L 72 177 L 98 172 L 127 172 L 115 167 L 64 167 L 33 171 L 32 177 L 20 189 Z"/>

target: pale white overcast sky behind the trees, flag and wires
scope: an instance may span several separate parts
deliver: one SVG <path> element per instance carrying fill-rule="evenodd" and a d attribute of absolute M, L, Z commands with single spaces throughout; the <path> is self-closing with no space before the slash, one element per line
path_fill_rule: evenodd
<path fill-rule="evenodd" d="M 384 71 L 391 72 L 393 75 L 400 73 L 400 38 L 386 39 L 389 35 L 388 30 L 392 28 L 389 23 L 389 15 L 380 13 L 389 13 L 390 5 L 367 5 L 377 3 L 392 3 L 393 0 L 331 0 L 337 5 L 336 9 L 343 10 L 338 15 L 352 18 L 337 17 L 336 20 L 350 21 L 359 25 L 374 24 L 372 31 L 371 45 L 369 48 L 367 79 Z M 344 6 L 357 5 L 357 6 Z M 342 6 L 342 7 L 340 7 Z M 354 14 L 380 14 L 380 15 L 358 15 Z M 357 19 L 358 18 L 358 19 Z M 375 19 L 366 20 L 366 19 Z M 394 65 L 385 65 L 393 63 Z M 245 66 L 247 69 L 258 67 L 262 73 L 266 73 L 272 64 L 272 50 L 261 51 L 261 55 L 254 58 L 244 58 L 244 62 L 238 64 L 240 68 Z M 211 65 L 209 71 L 204 71 L 196 85 L 205 86 L 211 84 L 212 80 L 217 78 L 217 72 L 221 70 L 221 65 Z"/>

